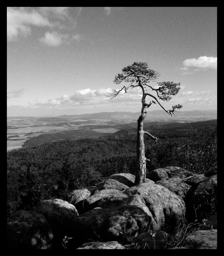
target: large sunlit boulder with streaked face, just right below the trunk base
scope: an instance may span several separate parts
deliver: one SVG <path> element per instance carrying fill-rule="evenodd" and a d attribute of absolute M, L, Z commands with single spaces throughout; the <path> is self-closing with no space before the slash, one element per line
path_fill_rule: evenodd
<path fill-rule="evenodd" d="M 159 230 L 177 234 L 185 225 L 186 207 L 182 198 L 153 181 L 142 183 L 124 191 L 126 195 L 140 195 L 148 207 Z"/>

